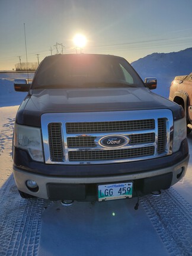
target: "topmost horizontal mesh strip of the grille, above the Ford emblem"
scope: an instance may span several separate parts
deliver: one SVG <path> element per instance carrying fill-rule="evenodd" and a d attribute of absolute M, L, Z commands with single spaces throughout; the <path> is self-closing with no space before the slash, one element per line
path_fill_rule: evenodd
<path fill-rule="evenodd" d="M 103 122 L 78 122 L 66 123 L 67 133 L 101 133 L 101 132 L 124 132 L 130 130 L 154 129 L 155 121 L 130 120 L 130 121 L 103 121 Z"/>

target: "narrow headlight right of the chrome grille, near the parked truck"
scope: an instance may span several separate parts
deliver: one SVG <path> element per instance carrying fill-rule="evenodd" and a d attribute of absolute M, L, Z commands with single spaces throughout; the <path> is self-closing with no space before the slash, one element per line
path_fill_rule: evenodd
<path fill-rule="evenodd" d="M 172 144 L 172 152 L 180 149 L 181 142 L 187 137 L 187 124 L 185 117 L 183 119 L 174 121 L 174 139 Z"/>

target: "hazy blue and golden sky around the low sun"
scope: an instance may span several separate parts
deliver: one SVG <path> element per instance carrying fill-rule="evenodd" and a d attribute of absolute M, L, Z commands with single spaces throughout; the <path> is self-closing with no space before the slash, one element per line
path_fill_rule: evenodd
<path fill-rule="evenodd" d="M 26 62 L 25 40 L 28 62 L 61 53 L 62 46 L 75 53 L 76 33 L 87 37 L 83 53 L 130 63 L 178 52 L 192 47 L 191 9 L 191 0 L 0 0 L 0 70 L 15 69 L 19 56 Z"/>

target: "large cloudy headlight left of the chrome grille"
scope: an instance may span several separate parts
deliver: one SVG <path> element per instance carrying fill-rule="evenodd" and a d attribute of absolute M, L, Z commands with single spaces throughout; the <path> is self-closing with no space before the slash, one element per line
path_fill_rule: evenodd
<path fill-rule="evenodd" d="M 44 161 L 40 128 L 15 124 L 14 146 L 28 151 L 33 160 Z"/>

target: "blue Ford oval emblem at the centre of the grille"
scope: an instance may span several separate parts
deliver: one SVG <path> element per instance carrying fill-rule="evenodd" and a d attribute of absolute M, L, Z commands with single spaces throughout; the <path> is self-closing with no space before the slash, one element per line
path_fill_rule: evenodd
<path fill-rule="evenodd" d="M 129 138 L 121 135 L 104 136 L 99 141 L 105 148 L 119 148 L 129 143 Z"/>

